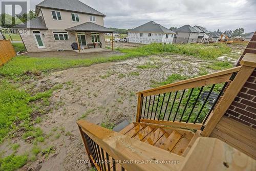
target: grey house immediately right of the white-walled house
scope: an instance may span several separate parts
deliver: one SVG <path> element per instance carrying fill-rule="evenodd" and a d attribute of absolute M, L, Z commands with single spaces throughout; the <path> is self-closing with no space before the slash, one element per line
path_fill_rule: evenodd
<path fill-rule="evenodd" d="M 173 31 L 176 33 L 174 37 L 174 42 L 176 44 L 188 44 L 191 42 L 197 42 L 200 33 L 189 25 L 184 25 L 178 29 L 174 29 Z"/>

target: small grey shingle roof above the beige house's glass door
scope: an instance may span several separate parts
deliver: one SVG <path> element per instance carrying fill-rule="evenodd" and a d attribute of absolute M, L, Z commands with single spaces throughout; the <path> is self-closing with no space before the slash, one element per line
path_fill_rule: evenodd
<path fill-rule="evenodd" d="M 44 19 L 42 19 L 41 16 L 38 16 L 36 18 L 33 18 L 29 20 L 28 22 L 25 22 L 24 24 L 19 24 L 16 26 L 13 26 L 12 28 L 17 29 L 42 29 L 47 30 L 46 24 L 44 22 Z"/>

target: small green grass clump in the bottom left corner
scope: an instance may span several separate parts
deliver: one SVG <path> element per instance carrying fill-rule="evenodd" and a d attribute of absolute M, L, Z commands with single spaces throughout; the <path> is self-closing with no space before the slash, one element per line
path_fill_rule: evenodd
<path fill-rule="evenodd" d="M 0 159 L 1 171 L 13 171 L 24 166 L 28 161 L 27 155 L 15 156 L 14 154 Z"/>

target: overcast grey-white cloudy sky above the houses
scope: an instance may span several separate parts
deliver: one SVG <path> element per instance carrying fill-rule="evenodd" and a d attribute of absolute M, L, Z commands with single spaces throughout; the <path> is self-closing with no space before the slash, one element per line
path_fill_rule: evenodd
<path fill-rule="evenodd" d="M 209 31 L 256 31 L 256 0 L 80 0 L 106 15 L 105 27 L 130 29 L 153 20 L 167 28 L 189 24 Z M 31 9 L 42 0 L 30 0 Z"/>

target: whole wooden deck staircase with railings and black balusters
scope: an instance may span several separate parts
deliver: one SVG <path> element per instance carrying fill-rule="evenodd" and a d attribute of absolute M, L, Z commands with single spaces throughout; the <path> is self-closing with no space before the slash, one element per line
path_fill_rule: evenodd
<path fill-rule="evenodd" d="M 240 63 L 239 67 L 138 92 L 136 122 L 119 132 L 79 120 L 92 166 L 104 171 L 254 170 L 253 155 L 209 138 L 254 72 L 256 54 L 247 53 Z M 216 98 L 211 99 L 212 93 Z"/>

